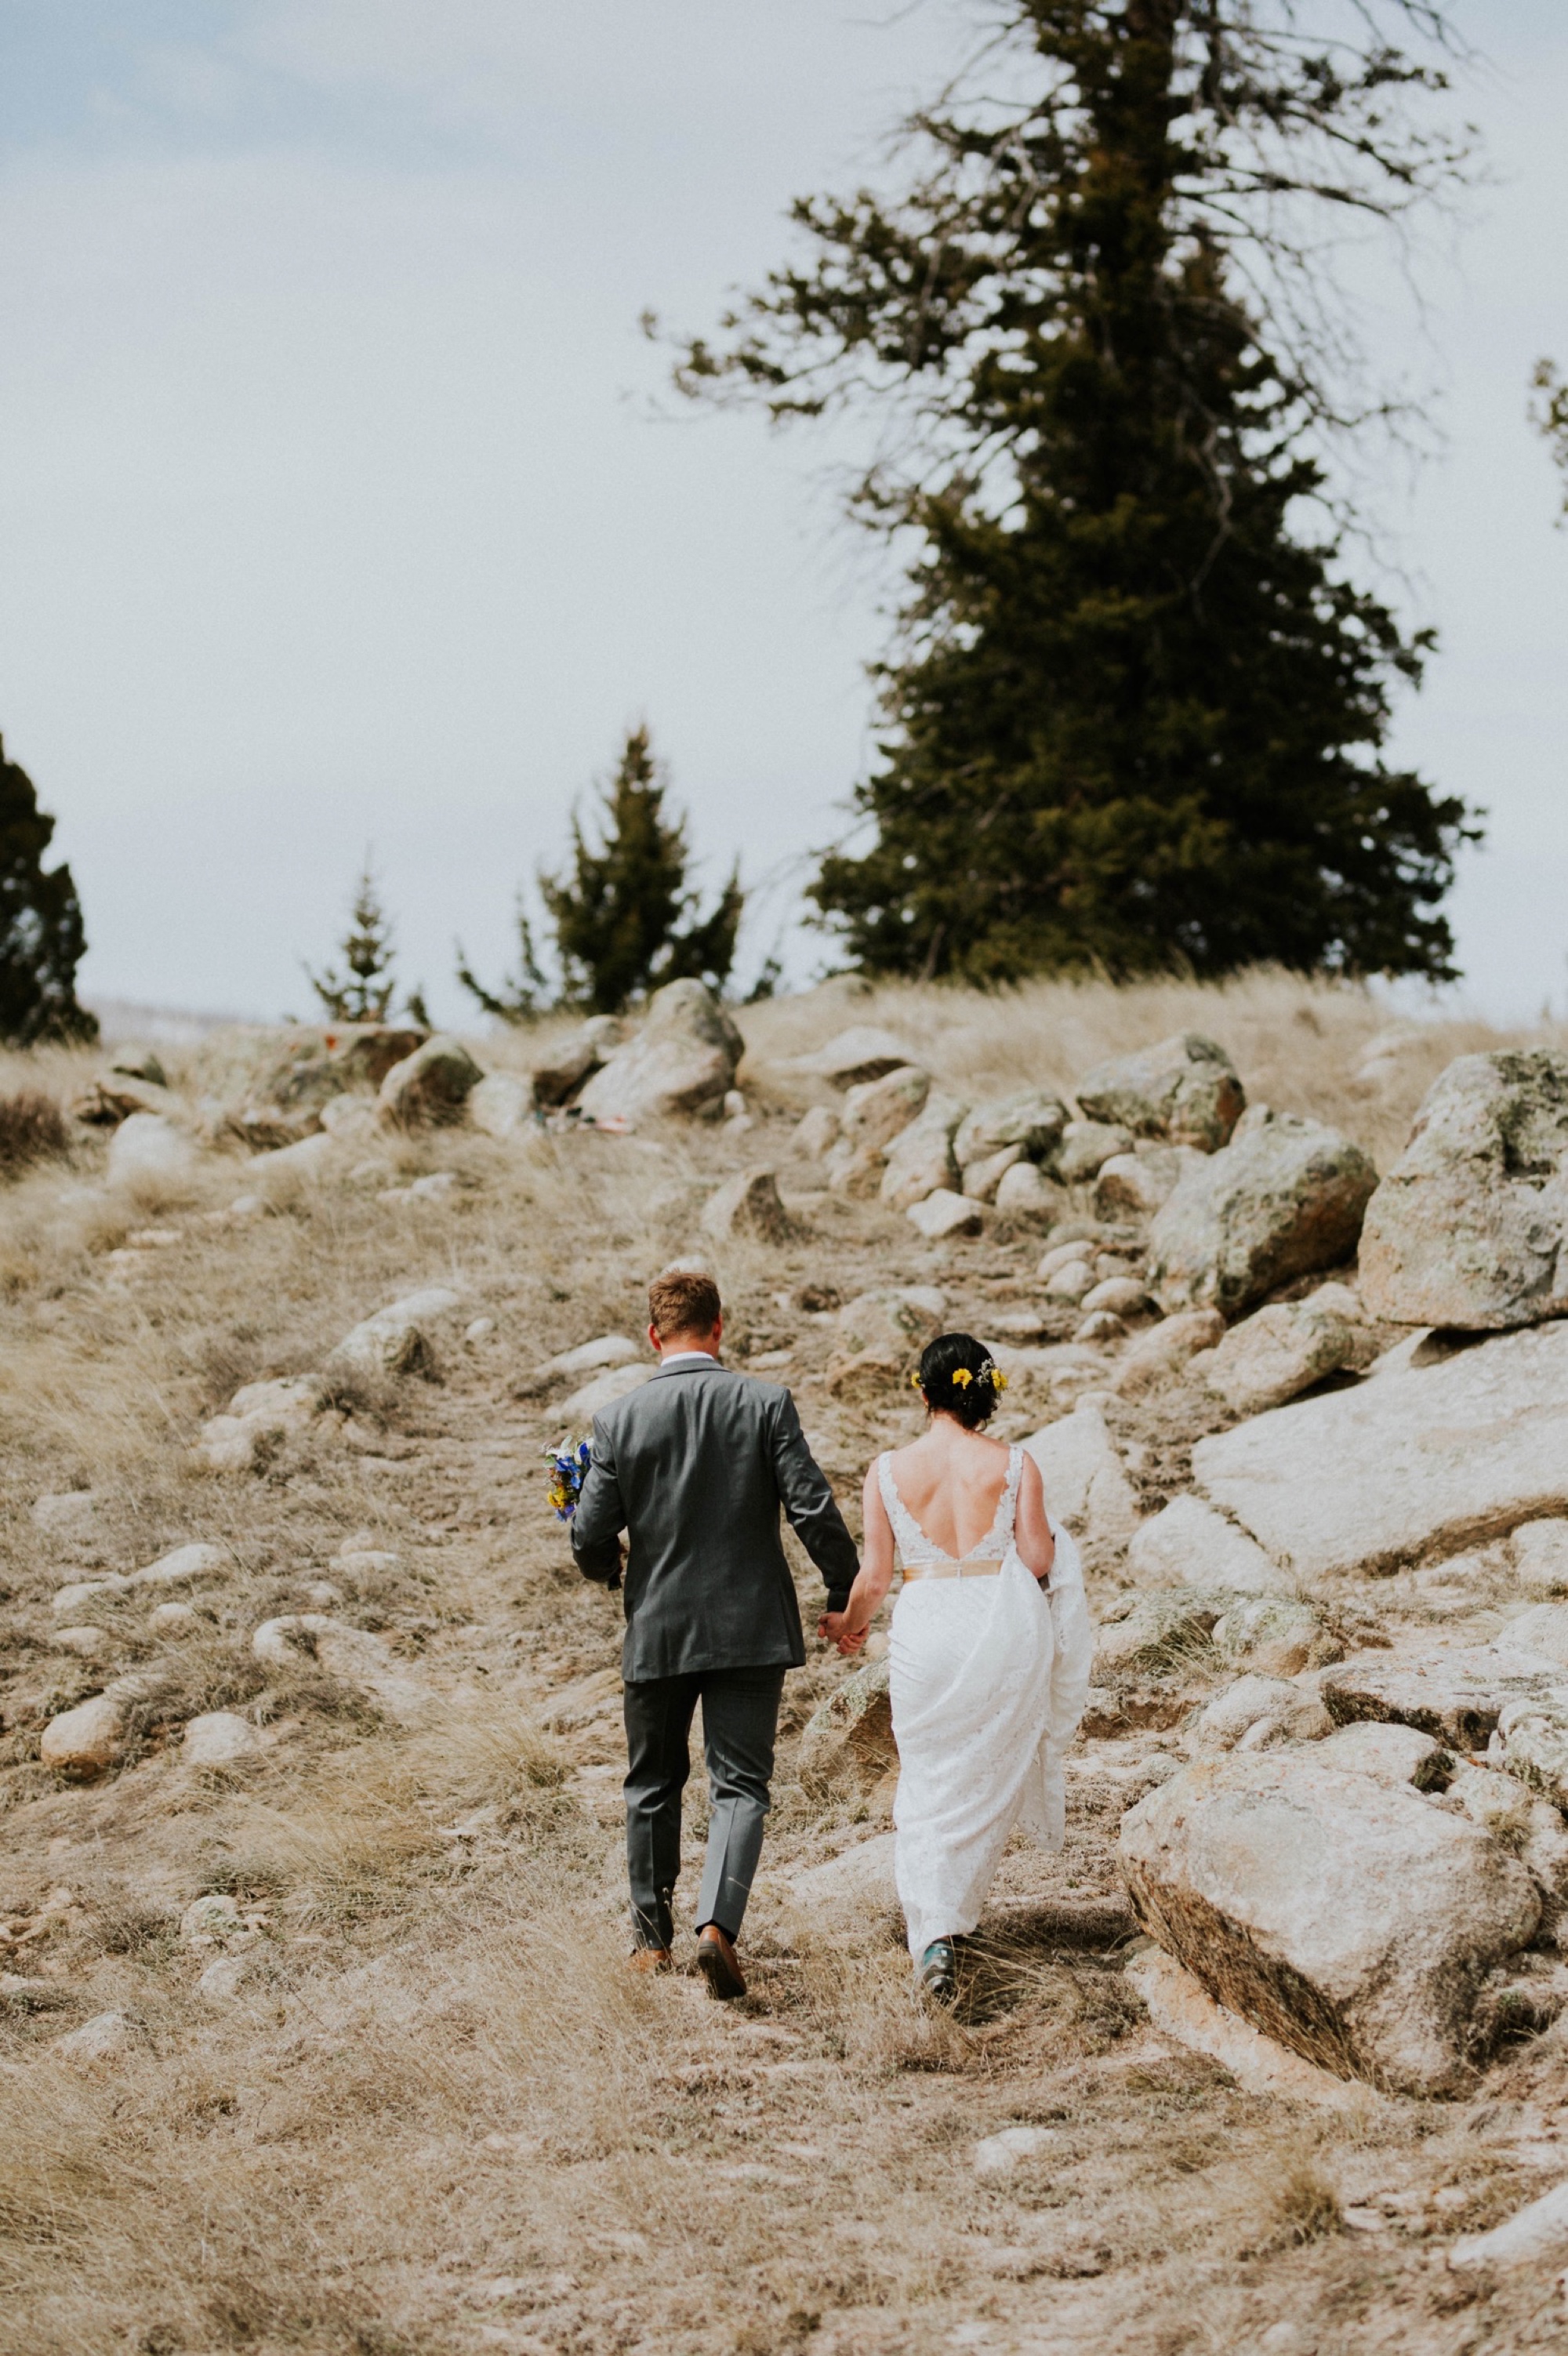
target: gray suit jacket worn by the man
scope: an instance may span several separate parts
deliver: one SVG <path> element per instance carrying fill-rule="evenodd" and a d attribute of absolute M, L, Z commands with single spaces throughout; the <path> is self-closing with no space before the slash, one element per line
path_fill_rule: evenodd
<path fill-rule="evenodd" d="M 779 1505 L 841 1612 L 855 1538 L 777 1383 L 716 1359 L 662 1366 L 593 1418 L 593 1465 L 572 1517 L 586 1579 L 614 1583 L 631 1534 L 622 1675 L 697 1668 L 800 1668 L 800 1607 L 779 1541 Z"/>

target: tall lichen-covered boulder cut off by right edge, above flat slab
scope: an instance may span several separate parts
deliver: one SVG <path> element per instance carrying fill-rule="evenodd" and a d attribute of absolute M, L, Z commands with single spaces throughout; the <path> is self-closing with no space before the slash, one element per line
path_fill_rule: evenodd
<path fill-rule="evenodd" d="M 1361 1237 L 1396 1324 L 1497 1331 L 1568 1312 L 1568 1055 L 1460 1055 L 1427 1091 Z"/>

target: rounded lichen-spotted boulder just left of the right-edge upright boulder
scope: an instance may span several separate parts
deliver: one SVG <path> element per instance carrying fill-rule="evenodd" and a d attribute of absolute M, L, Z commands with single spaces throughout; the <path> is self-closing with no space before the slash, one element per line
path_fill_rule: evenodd
<path fill-rule="evenodd" d="M 1349 1260 L 1375 1185 L 1337 1129 L 1255 1105 L 1156 1213 L 1149 1291 L 1163 1310 L 1205 1303 L 1241 1317 L 1278 1284 Z"/>

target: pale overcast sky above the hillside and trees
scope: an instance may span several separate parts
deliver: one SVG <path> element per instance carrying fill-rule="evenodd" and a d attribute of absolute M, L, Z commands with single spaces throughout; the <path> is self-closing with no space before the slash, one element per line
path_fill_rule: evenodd
<path fill-rule="evenodd" d="M 888 19 L 888 21 L 881 21 Z M 464 1001 L 647 716 L 713 881 L 791 872 L 869 759 L 876 568 L 822 450 L 652 415 L 798 191 L 862 177 L 961 0 L 7 0 L 0 728 L 59 818 L 85 992 L 308 1008 L 365 846 Z M 1446 455 L 1377 483 L 1441 653 L 1396 752 L 1490 808 L 1467 997 L 1568 1001 L 1568 535 L 1526 424 L 1568 363 L 1568 12 L 1479 0 L 1497 177 L 1398 302 Z M 739 980 L 789 919 L 760 900 Z M 789 968 L 824 954 L 796 935 Z"/>

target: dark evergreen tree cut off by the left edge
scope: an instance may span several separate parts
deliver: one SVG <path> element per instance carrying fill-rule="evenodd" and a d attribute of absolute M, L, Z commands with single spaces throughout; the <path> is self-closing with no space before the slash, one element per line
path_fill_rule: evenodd
<path fill-rule="evenodd" d="M 75 968 L 87 947 L 82 905 L 68 867 L 45 869 L 54 820 L 38 808 L 33 780 L 5 759 L 0 740 L 0 1039 L 97 1039 L 97 1018 L 75 1001 Z"/>

